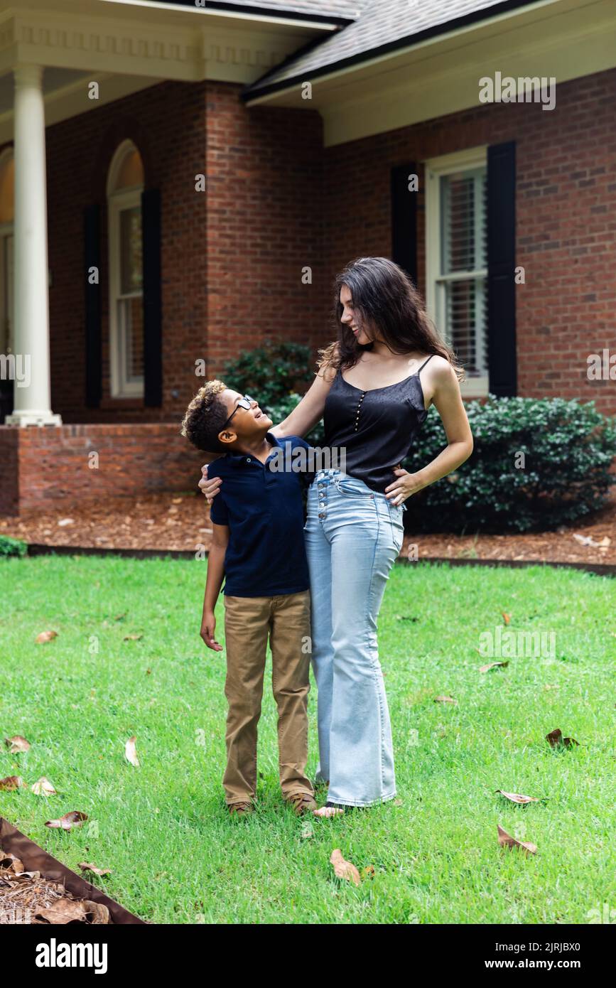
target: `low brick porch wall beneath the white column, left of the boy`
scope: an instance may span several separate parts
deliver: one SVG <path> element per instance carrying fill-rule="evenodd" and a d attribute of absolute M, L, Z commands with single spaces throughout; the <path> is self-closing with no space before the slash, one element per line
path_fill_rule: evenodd
<path fill-rule="evenodd" d="M 202 454 L 171 423 L 0 426 L 0 515 L 194 490 L 202 462 Z"/>

